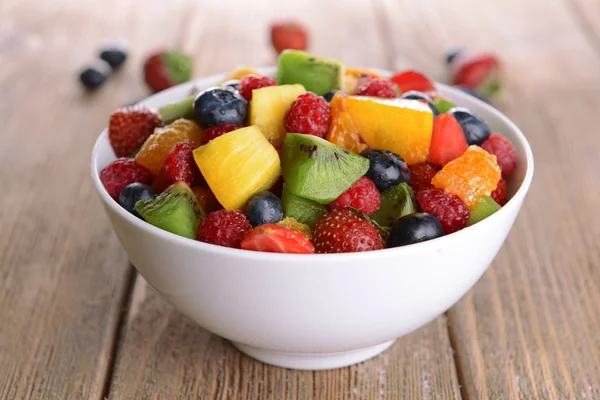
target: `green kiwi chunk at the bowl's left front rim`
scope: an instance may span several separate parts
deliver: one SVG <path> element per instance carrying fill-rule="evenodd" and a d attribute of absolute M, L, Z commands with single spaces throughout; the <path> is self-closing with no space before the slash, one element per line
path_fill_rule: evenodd
<path fill-rule="evenodd" d="M 185 182 L 174 183 L 150 200 L 138 201 L 133 209 L 149 224 L 190 239 L 196 239 L 198 224 L 205 216 Z"/>

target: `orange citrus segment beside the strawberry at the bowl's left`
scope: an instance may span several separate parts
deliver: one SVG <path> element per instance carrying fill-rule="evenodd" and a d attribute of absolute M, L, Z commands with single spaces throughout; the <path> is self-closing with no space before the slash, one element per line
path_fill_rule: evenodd
<path fill-rule="evenodd" d="M 194 121 L 178 119 L 170 125 L 155 129 L 136 154 L 135 161 L 156 175 L 177 143 L 189 139 L 200 146 L 202 136 L 202 130 Z"/>

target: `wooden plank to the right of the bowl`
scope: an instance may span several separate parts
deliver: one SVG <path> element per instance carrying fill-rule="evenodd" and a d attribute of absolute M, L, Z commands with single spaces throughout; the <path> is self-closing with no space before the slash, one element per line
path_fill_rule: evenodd
<path fill-rule="evenodd" d="M 390 18 L 399 67 L 410 57 L 443 76 L 440 55 L 449 46 L 500 52 L 503 109 L 536 156 L 534 183 L 505 246 L 448 313 L 463 396 L 600 398 L 594 44 L 560 1 L 385 1 L 384 9 L 419 21 Z"/>

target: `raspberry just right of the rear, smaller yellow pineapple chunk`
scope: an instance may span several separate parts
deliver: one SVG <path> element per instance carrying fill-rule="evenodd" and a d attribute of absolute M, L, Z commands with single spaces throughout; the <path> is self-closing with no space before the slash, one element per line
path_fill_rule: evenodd
<path fill-rule="evenodd" d="M 285 114 L 288 132 L 324 137 L 331 122 L 331 107 L 327 100 L 314 93 L 304 93 Z"/>

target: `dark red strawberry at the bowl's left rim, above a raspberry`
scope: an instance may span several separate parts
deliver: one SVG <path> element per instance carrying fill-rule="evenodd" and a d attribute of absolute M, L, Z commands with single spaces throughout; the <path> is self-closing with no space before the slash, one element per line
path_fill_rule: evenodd
<path fill-rule="evenodd" d="M 119 108 L 108 121 L 108 140 L 117 157 L 128 157 L 161 125 L 160 114 L 151 108 Z"/>

